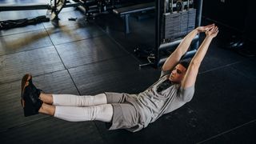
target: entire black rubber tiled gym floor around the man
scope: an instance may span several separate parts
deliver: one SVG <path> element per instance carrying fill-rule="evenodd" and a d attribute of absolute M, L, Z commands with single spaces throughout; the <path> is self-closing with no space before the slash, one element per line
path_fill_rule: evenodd
<path fill-rule="evenodd" d="M 1 12 L 0 19 L 41 14 L 46 10 Z M 70 17 L 78 19 L 68 21 Z M 146 129 L 130 133 L 106 130 L 104 122 L 65 122 L 43 114 L 23 117 L 20 80 L 26 73 L 47 93 L 81 95 L 136 94 L 160 75 L 150 66 L 139 69 L 145 61 L 133 54 L 136 47 L 154 47 L 154 17 L 131 17 L 127 35 L 122 19 L 113 14 L 86 22 L 80 12 L 66 8 L 60 19 L 59 27 L 44 22 L 0 31 L 1 143 L 256 142 L 256 59 L 223 50 L 219 38 L 202 62 L 192 101 Z"/>

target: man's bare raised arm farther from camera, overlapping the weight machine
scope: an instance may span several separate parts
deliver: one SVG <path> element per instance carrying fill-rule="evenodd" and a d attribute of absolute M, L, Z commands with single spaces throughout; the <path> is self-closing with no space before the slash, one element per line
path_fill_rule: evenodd
<path fill-rule="evenodd" d="M 182 39 L 182 42 L 180 42 L 176 50 L 174 50 L 174 52 L 170 54 L 169 58 L 166 59 L 166 62 L 162 66 L 162 70 L 172 70 L 174 66 L 176 66 L 176 64 L 182 58 L 182 55 L 184 55 L 186 51 L 189 49 L 193 38 L 198 33 L 205 32 L 207 29 L 210 29 L 213 26 L 214 24 L 208 26 L 199 26 L 198 28 L 192 30 L 189 34 L 187 34 L 186 37 Z"/>

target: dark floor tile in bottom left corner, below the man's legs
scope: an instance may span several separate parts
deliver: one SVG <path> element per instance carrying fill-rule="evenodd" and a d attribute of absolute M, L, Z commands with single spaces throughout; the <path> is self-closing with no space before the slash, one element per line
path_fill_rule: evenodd
<path fill-rule="evenodd" d="M 1 134 L 2 143 L 104 143 L 94 122 L 42 118 Z"/>

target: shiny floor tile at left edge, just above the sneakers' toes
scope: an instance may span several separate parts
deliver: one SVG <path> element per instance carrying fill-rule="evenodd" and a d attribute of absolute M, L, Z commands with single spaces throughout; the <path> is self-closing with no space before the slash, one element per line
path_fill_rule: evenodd
<path fill-rule="evenodd" d="M 0 56 L 0 84 L 20 80 L 23 74 L 46 74 L 64 70 L 53 46 Z"/>

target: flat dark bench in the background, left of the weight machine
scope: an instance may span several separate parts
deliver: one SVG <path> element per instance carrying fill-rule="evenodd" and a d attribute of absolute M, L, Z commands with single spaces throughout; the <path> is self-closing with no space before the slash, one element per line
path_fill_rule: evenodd
<path fill-rule="evenodd" d="M 124 17 L 125 33 L 129 34 L 130 33 L 130 29 L 129 29 L 130 14 L 138 13 L 146 10 L 154 10 L 154 9 L 155 9 L 155 2 L 148 2 L 148 3 L 142 3 L 134 6 L 121 7 L 118 9 L 114 9 L 113 12 L 114 14 L 118 14 L 119 16 Z"/>

